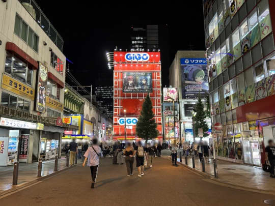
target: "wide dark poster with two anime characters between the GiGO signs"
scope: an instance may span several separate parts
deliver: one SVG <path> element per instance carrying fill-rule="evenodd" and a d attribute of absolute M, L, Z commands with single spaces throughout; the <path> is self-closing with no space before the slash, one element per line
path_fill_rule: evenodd
<path fill-rule="evenodd" d="M 123 73 L 124 93 L 148 93 L 152 92 L 152 73 L 125 72 Z"/>

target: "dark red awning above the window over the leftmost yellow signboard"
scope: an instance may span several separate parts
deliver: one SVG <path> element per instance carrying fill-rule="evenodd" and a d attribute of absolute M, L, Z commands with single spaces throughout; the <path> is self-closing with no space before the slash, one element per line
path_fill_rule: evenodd
<path fill-rule="evenodd" d="M 28 62 L 30 65 L 32 65 L 32 68 L 30 69 L 38 69 L 38 62 L 35 61 L 29 54 L 20 49 L 16 44 L 7 42 L 6 50 L 14 52 L 16 56 L 22 59 L 22 61 Z"/>

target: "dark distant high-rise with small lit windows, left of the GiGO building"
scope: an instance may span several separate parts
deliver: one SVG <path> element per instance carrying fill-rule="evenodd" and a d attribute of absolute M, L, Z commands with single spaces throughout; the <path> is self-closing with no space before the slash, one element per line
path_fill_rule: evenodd
<path fill-rule="evenodd" d="M 100 112 L 113 118 L 114 86 L 98 86 L 95 88 L 96 102 Z"/>

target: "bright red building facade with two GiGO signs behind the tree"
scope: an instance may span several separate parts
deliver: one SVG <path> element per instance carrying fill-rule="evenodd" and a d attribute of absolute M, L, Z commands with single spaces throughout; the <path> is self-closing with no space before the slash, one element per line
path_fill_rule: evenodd
<path fill-rule="evenodd" d="M 136 121 L 150 95 L 162 139 L 160 52 L 114 52 L 114 140 L 137 140 Z M 124 110 L 126 112 L 124 113 Z"/>

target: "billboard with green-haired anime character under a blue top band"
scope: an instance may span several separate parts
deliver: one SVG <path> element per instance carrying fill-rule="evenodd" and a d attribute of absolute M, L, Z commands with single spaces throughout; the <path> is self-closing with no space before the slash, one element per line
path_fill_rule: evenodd
<path fill-rule="evenodd" d="M 206 58 L 181 58 L 180 62 L 182 98 L 206 98 L 209 90 Z"/>

